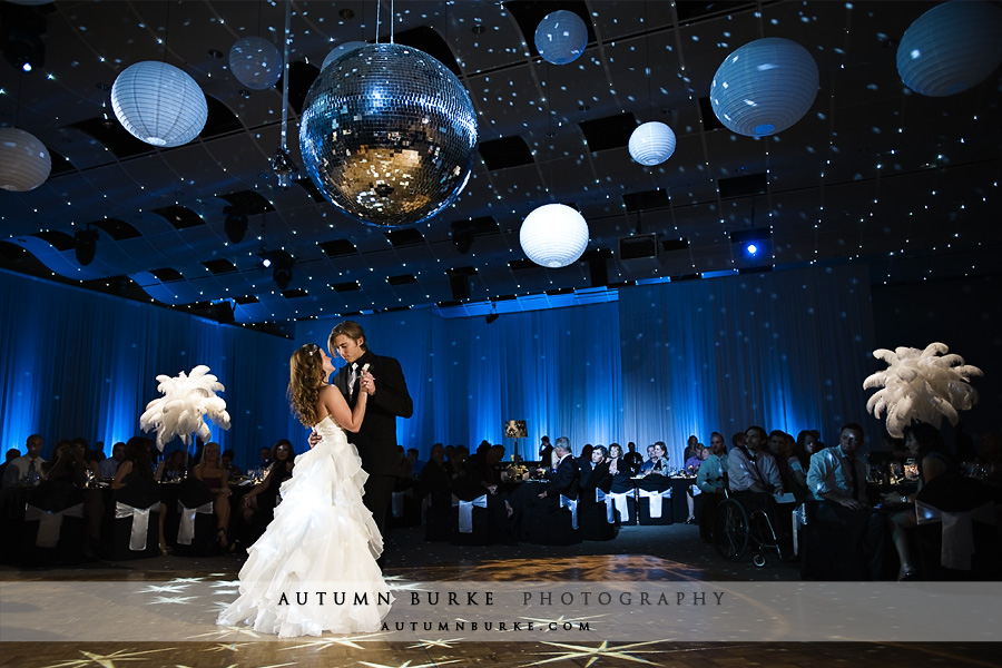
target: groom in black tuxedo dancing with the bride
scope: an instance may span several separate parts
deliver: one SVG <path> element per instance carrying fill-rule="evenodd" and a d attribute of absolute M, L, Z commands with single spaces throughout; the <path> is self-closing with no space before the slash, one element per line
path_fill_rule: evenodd
<path fill-rule="evenodd" d="M 350 434 L 348 440 L 358 449 L 362 468 L 369 473 L 362 500 L 372 511 L 372 519 L 380 528 L 380 533 L 383 533 L 400 465 L 396 416 L 410 418 L 414 413 L 414 402 L 407 393 L 400 362 L 373 354 L 365 344 L 365 331 L 358 323 L 345 321 L 335 325 L 327 340 L 327 348 L 332 355 L 336 353 L 346 363 L 331 382 L 341 390 L 348 407 L 355 407 L 362 391 L 362 369 L 366 364 L 372 374 L 372 380 L 365 387 L 370 394 L 362 429 Z M 314 439 L 320 441 L 320 436 L 311 435 L 311 444 Z"/>

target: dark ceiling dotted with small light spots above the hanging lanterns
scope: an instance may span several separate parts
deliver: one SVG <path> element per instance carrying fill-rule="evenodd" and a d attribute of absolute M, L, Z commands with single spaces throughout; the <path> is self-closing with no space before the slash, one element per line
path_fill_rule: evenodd
<path fill-rule="evenodd" d="M 895 67 L 904 30 L 935 3 L 384 1 L 380 41 L 391 6 L 394 40 L 458 72 L 480 143 L 455 203 L 395 230 L 323 200 L 297 139 L 327 52 L 375 41 L 375 2 L 292 2 L 289 149 L 301 180 L 287 190 L 269 167 L 282 82 L 248 92 L 227 67 L 242 37 L 281 45 L 284 2 L 0 2 L 8 24 L 22 12 L 43 20 L 45 45 L 29 73 L 0 60 L 0 125 L 37 136 L 53 161 L 35 190 L 0 191 L 0 267 L 265 327 L 429 304 L 482 313 L 489 301 L 518 308 L 527 295 L 844 262 L 871 263 L 876 284 L 998 271 L 1002 68 L 927 98 L 905 89 Z M 591 31 L 567 66 L 532 46 L 539 18 L 556 9 Z M 807 48 L 821 88 L 799 122 L 754 139 L 724 128 L 707 97 L 724 58 L 760 37 Z M 164 59 L 209 101 L 203 134 L 166 149 L 131 139 L 109 92 L 124 68 Z M 648 120 L 678 137 L 656 167 L 626 148 Z M 525 258 L 519 227 L 553 202 L 582 213 L 590 240 L 580 262 L 546 269 Z M 250 212 L 240 243 L 225 233 L 228 206 Z M 80 266 L 73 236 L 88 225 L 96 255 Z M 746 257 L 738 242 L 763 229 L 763 250 Z M 657 256 L 621 255 L 620 240 L 637 235 L 656 235 Z M 285 289 L 262 249 L 293 258 Z"/>

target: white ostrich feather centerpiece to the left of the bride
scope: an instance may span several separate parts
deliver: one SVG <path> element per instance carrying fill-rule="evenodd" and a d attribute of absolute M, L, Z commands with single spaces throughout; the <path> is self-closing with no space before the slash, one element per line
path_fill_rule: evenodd
<path fill-rule="evenodd" d="M 144 432 L 157 431 L 160 452 L 174 436 L 180 436 L 185 445 L 188 445 L 191 433 L 208 441 L 212 433 L 205 423 L 206 418 L 222 429 L 229 429 L 226 402 L 222 396 L 216 396 L 216 392 L 223 392 L 226 387 L 205 364 L 193 369 L 190 374 L 180 372 L 176 377 L 158 375 L 157 381 L 160 382 L 157 390 L 164 396 L 146 404 L 139 426 Z"/>

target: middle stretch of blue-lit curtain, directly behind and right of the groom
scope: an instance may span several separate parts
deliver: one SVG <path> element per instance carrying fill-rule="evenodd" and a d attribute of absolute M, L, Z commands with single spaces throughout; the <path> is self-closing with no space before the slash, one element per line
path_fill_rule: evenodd
<path fill-rule="evenodd" d="M 539 439 L 608 444 L 621 432 L 619 317 L 616 303 L 443 318 L 411 310 L 355 318 L 370 348 L 396 357 L 414 400 L 397 439 L 426 456 L 432 443 L 474 449 L 487 439 L 512 454 L 505 420 L 525 420 L 519 454 L 534 459 Z M 299 323 L 297 343 L 325 344 L 337 318 Z M 379 392 L 379 379 L 376 379 Z"/>

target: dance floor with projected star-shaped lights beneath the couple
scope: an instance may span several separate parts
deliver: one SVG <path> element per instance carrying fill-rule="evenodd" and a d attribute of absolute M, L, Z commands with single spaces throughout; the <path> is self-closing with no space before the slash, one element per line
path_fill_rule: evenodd
<path fill-rule="evenodd" d="M 426 543 L 420 529 L 392 529 L 386 548 L 384 570 L 397 599 L 387 618 L 390 629 L 285 640 L 212 623 L 219 606 L 235 596 L 242 563 L 237 558 L 168 556 L 72 568 L 0 567 L 0 667 L 1002 665 L 1002 644 L 996 642 L 901 640 L 907 633 L 895 631 L 893 622 L 887 625 L 887 640 L 880 629 L 853 636 L 844 626 L 853 608 L 834 600 L 843 591 L 837 588 L 835 596 L 825 593 L 807 603 L 798 599 L 797 605 L 777 605 L 787 592 L 817 583 L 798 583 L 798 567 L 778 560 L 762 569 L 750 557 L 725 561 L 691 525 L 629 527 L 615 541 L 560 548 Z M 700 591 L 709 605 L 694 607 L 698 601 L 689 599 Z M 874 591 L 880 597 L 890 590 Z M 456 605 L 444 607 L 449 592 L 458 593 Z M 518 610 L 484 607 L 488 593 L 503 599 L 515 592 L 525 597 L 519 598 L 525 606 Z M 617 598 L 599 605 L 582 599 L 587 592 L 596 598 L 616 592 Z M 623 592 L 631 603 L 626 607 L 620 605 Z M 670 600 L 656 605 L 658 592 L 662 599 L 670 592 Z M 431 611 L 428 606 L 411 608 L 411 597 L 430 603 L 433 593 L 442 595 L 440 606 Z M 651 605 L 639 606 L 647 595 Z M 725 602 L 733 596 L 745 599 L 730 608 L 737 618 L 727 619 L 726 610 L 724 617 L 707 612 L 715 596 L 728 597 Z M 139 607 L 129 602 L 137 597 L 143 600 Z M 901 610 L 902 620 L 920 619 L 908 618 L 908 612 L 915 615 Z M 960 611 L 937 607 L 935 598 L 922 611 L 931 625 L 952 612 Z M 811 615 L 821 623 L 815 619 L 807 631 L 797 631 L 800 618 Z M 804 635 L 790 637 L 799 632 Z M 829 641 L 854 637 L 867 641 Z"/>

